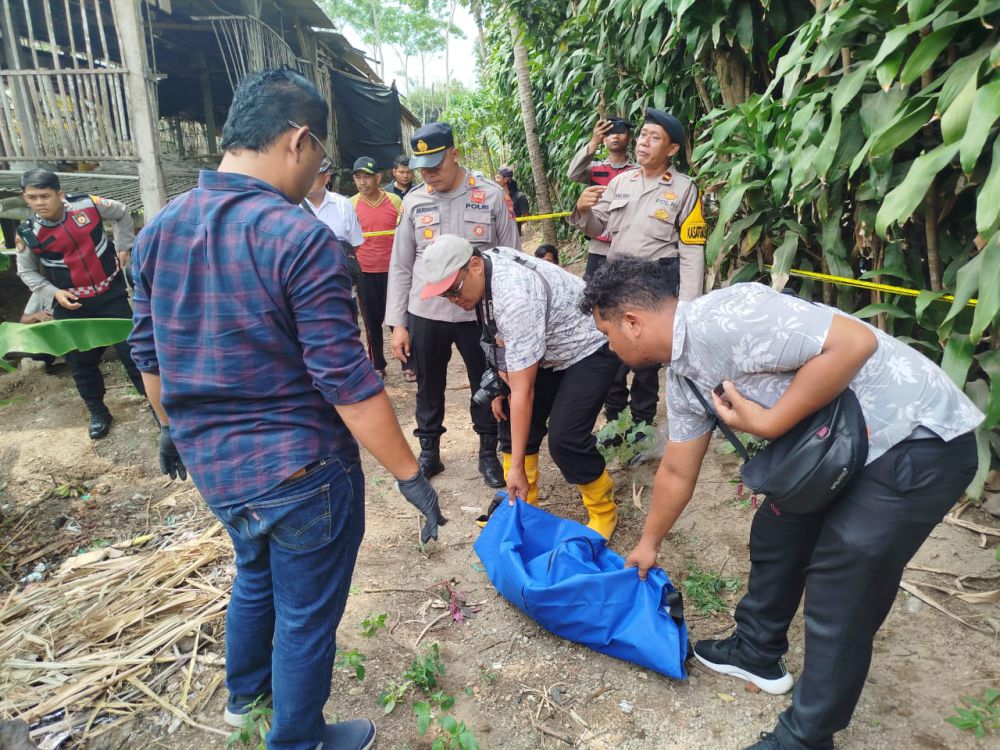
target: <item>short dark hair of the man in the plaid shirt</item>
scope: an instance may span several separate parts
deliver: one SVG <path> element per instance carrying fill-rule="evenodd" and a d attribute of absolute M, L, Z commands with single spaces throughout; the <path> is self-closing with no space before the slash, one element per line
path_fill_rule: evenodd
<path fill-rule="evenodd" d="M 251 73 L 233 92 L 229 116 L 222 126 L 222 148 L 266 151 L 292 126 L 308 126 L 321 141 L 327 136 L 326 99 L 301 74 L 290 68 Z"/>

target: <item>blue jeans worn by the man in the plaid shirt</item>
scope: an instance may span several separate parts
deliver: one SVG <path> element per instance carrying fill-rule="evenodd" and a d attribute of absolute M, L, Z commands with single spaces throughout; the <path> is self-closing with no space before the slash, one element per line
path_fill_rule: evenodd
<path fill-rule="evenodd" d="M 365 531 L 361 466 L 328 458 L 302 477 L 212 512 L 236 551 L 226 611 L 230 705 L 271 693 L 268 749 L 315 750 L 337 625 Z"/>

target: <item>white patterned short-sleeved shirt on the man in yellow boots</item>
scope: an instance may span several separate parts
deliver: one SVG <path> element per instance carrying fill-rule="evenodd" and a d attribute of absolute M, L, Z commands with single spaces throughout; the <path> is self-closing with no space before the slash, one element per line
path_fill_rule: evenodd
<path fill-rule="evenodd" d="M 508 372 L 536 362 L 565 370 L 607 343 L 594 317 L 580 311 L 582 279 L 510 248 L 498 247 L 486 256 L 493 316 Z M 518 257 L 524 262 L 515 260 Z"/>

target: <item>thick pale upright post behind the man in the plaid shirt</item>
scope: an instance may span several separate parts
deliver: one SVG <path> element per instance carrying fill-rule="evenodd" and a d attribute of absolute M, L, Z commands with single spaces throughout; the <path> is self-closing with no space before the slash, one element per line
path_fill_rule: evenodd
<path fill-rule="evenodd" d="M 139 157 L 139 196 L 142 198 L 143 223 L 148 223 L 167 202 L 167 189 L 160 169 L 160 133 L 152 101 L 156 88 L 150 81 L 146 62 L 145 24 L 139 2 L 140 0 L 111 0 L 122 62 L 128 71 L 128 113 Z"/>

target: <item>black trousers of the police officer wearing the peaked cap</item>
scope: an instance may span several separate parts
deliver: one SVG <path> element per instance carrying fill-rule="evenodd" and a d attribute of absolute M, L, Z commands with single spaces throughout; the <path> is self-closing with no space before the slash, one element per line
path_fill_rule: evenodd
<path fill-rule="evenodd" d="M 475 321 L 447 323 L 418 315 L 410 317 L 410 354 L 417 365 L 417 429 L 413 434 L 418 438 L 438 437 L 445 432 L 444 390 L 452 345 L 458 348 L 469 376 L 473 429 L 480 435 L 497 434 L 497 421 L 489 404 L 480 406 L 472 400 L 486 370 L 486 355 L 479 338 L 479 324 Z"/>

